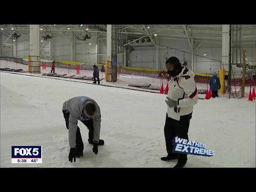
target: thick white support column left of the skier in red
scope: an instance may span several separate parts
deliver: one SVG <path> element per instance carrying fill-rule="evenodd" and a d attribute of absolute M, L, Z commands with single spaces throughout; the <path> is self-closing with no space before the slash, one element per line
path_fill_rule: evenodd
<path fill-rule="evenodd" d="M 28 71 L 30 73 L 40 72 L 40 50 L 39 50 L 39 25 L 29 25 L 29 64 Z"/>

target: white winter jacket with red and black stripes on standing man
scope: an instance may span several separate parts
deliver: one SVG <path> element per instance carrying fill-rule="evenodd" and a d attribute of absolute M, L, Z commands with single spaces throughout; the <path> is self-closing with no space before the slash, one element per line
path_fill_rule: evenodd
<path fill-rule="evenodd" d="M 177 107 L 167 106 L 168 117 L 180 120 L 180 116 L 193 112 L 193 107 L 197 104 L 198 99 L 194 76 L 195 74 L 190 69 L 182 66 L 181 72 L 171 78 L 168 97 L 177 101 Z"/>

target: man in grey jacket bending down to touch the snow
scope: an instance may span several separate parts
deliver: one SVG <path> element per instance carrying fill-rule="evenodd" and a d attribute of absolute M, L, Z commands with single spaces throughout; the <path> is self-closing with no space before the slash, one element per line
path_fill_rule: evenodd
<path fill-rule="evenodd" d="M 89 130 L 88 142 L 93 144 L 92 151 L 98 154 L 98 145 L 104 145 L 104 140 L 100 139 L 100 107 L 91 98 L 86 96 L 74 97 L 64 102 L 62 107 L 63 116 L 68 129 L 68 141 L 70 152 L 68 160 L 76 162 L 76 157 L 83 156 L 84 143 L 77 126 L 80 120 Z"/>

